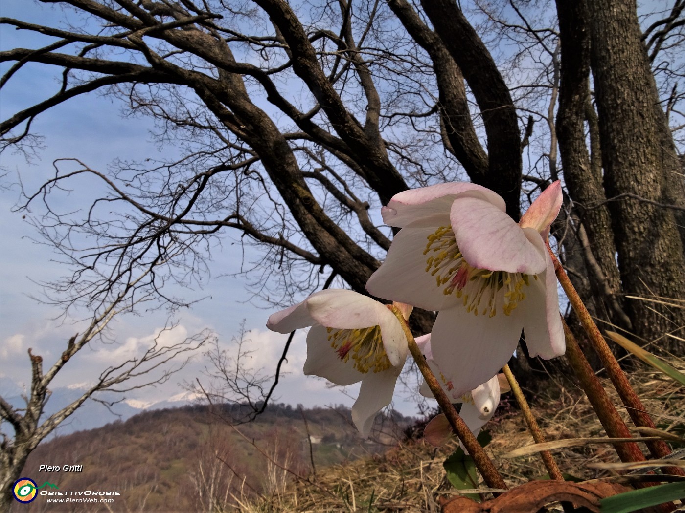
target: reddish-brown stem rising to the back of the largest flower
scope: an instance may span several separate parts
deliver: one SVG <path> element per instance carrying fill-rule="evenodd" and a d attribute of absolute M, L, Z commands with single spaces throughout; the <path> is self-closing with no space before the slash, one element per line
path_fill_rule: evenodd
<path fill-rule="evenodd" d="M 564 267 L 562 267 L 562 265 L 559 263 L 556 255 L 552 252 L 549 246 L 547 246 L 547 250 L 549 251 L 552 262 L 554 263 L 554 269 L 556 270 L 557 278 L 561 283 L 564 292 L 566 292 L 566 297 L 569 298 L 571 306 L 573 306 L 573 310 L 578 316 L 578 319 L 580 319 L 580 323 L 582 324 L 585 332 L 588 334 L 588 339 L 593 345 L 593 349 L 597 353 L 597 356 L 599 356 L 602 365 L 606 369 L 609 379 L 614 384 L 614 388 L 619 393 L 621 402 L 623 402 L 623 405 L 627 409 L 628 415 L 630 415 L 630 418 L 636 426 L 655 429 L 654 423 L 651 420 L 651 417 L 647 415 L 647 411 L 640 401 L 640 398 L 633 390 L 633 387 L 630 386 L 628 378 L 625 376 L 623 369 L 621 369 L 619 362 L 616 361 L 616 357 L 609 349 L 609 346 L 604 340 L 604 337 L 602 337 L 601 332 L 599 332 L 597 324 L 595 324 L 595 321 L 593 321 L 588 309 L 580 299 L 580 295 L 578 295 L 575 287 L 573 287 L 573 284 L 571 284 L 569 275 L 566 274 Z M 671 453 L 669 446 L 663 440 L 653 440 L 651 442 L 647 442 L 647 447 L 654 458 L 664 458 Z M 669 471 L 675 471 L 677 475 L 685 476 L 685 472 L 682 471 L 682 469 L 669 468 Z"/>

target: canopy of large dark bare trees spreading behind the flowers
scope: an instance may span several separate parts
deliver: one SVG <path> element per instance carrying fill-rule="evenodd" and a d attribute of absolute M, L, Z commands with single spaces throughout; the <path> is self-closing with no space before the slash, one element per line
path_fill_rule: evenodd
<path fill-rule="evenodd" d="M 77 16 L 3 18 L 53 42 L 1 52 L 13 64 L 0 85 L 28 63 L 62 81 L 2 122 L 5 147 L 99 91 L 181 151 L 108 172 L 58 165 L 26 193 L 20 208 L 42 202 L 38 224 L 74 266 L 65 298 L 97 301 L 155 269 L 130 292 L 186 304 L 165 283 L 201 280 L 226 230 L 262 248 L 256 292 L 271 302 L 329 280 L 364 292 L 392 237 L 377 208 L 394 194 L 470 180 L 516 219 L 562 178 L 554 235 L 593 313 L 645 341 L 682 337 L 682 0 L 40 3 Z M 86 212 L 53 207 L 86 175 L 105 189 Z M 417 331 L 431 323 L 414 316 Z"/>

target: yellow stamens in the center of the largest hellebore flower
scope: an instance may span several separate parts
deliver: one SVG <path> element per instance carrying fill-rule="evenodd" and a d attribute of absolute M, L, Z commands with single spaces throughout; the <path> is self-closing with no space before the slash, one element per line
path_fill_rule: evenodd
<path fill-rule="evenodd" d="M 504 315 L 510 315 L 516 304 L 525 298 L 523 286 L 530 285 L 530 276 L 473 267 L 464 260 L 451 226 L 440 226 L 427 238 L 428 244 L 423 251 L 428 256 L 425 271 L 435 276 L 445 295 L 463 298 L 467 312 L 495 317 L 501 306 Z M 538 279 L 537 276 L 533 278 Z"/>

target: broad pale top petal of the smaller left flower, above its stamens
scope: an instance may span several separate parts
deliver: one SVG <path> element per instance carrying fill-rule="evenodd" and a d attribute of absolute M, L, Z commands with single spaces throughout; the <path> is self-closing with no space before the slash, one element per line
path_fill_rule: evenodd
<path fill-rule="evenodd" d="M 325 289 L 315 292 L 305 302 L 312 318 L 328 328 L 377 326 L 379 316 L 388 311 L 384 304 L 366 295 L 345 289 Z"/>

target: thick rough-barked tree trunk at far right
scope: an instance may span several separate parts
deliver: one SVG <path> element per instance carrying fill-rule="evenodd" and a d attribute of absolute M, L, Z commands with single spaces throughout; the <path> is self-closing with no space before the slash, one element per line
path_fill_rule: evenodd
<path fill-rule="evenodd" d="M 674 209 L 673 143 L 664 143 L 666 121 L 631 0 L 588 2 L 604 189 L 625 295 L 685 298 L 685 257 Z M 682 189 L 681 189 L 682 190 Z M 678 203 L 680 203 L 678 201 Z M 627 300 L 632 330 L 647 341 L 680 352 L 665 337 L 685 327 L 685 308 Z M 680 349 L 678 348 L 680 346 Z"/>

